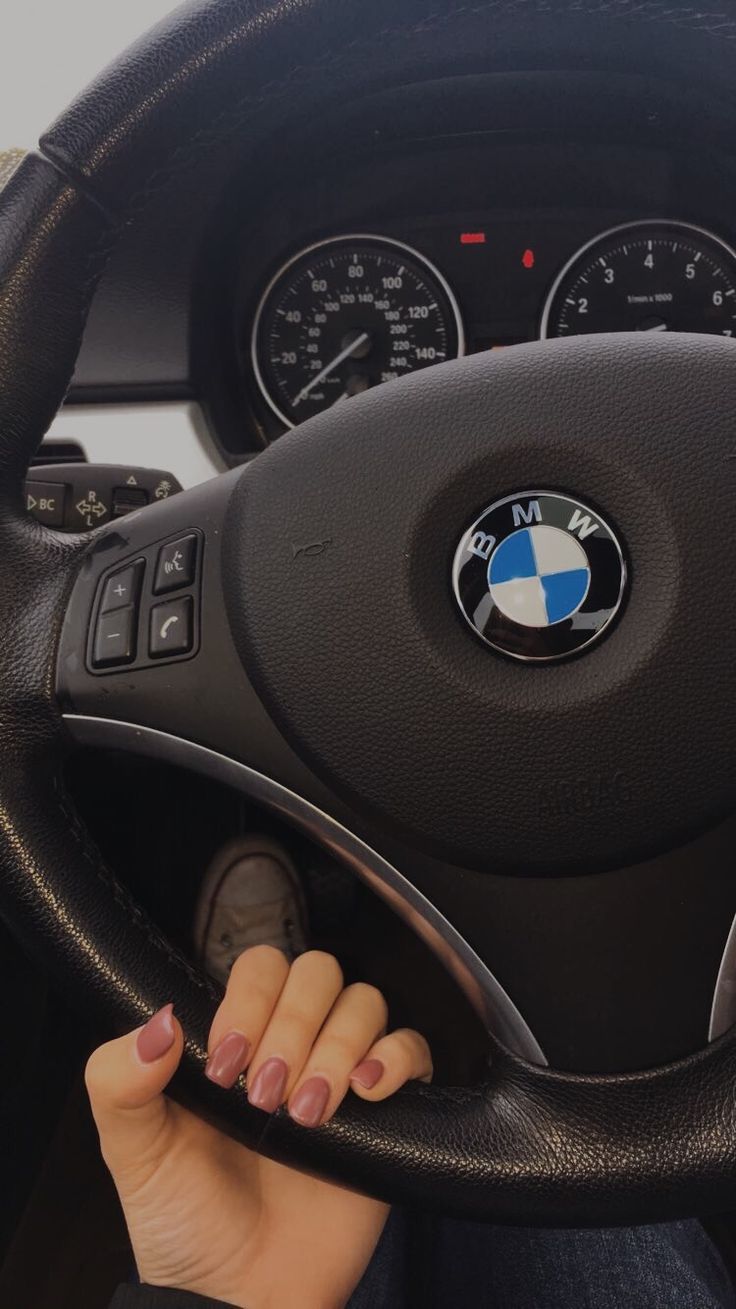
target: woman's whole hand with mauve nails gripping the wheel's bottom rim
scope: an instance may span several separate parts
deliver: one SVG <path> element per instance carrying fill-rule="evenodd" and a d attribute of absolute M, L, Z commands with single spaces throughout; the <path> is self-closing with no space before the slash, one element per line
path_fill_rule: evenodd
<path fill-rule="evenodd" d="M 233 966 L 210 1033 L 207 1076 L 246 1072 L 266 1113 L 287 1105 L 305 1128 L 348 1089 L 385 1100 L 430 1080 L 427 1042 L 385 1034 L 375 987 L 343 990 L 339 965 L 312 950 L 288 965 L 267 945 Z M 183 1047 L 172 1007 L 101 1046 L 86 1085 L 102 1155 L 118 1189 L 141 1282 L 242 1309 L 337 1309 L 371 1259 L 388 1207 L 254 1155 L 162 1092 Z"/>

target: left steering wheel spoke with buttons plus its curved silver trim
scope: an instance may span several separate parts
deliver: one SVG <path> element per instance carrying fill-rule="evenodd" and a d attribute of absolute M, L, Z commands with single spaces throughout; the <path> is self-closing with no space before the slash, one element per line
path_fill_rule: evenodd
<path fill-rule="evenodd" d="M 490 969 L 380 853 L 380 835 L 371 844 L 371 823 L 295 754 L 254 691 L 230 634 L 221 559 L 228 505 L 245 476 L 248 470 L 213 479 L 96 534 L 59 649 L 67 729 L 79 745 L 128 750 L 221 781 L 301 829 L 411 924 L 490 1033 L 543 1063 Z"/>

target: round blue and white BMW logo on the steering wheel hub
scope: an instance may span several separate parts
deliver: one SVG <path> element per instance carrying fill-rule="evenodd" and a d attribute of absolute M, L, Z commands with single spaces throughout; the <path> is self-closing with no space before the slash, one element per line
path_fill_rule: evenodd
<path fill-rule="evenodd" d="M 543 662 L 602 636 L 623 600 L 626 564 L 595 509 L 553 491 L 524 491 L 496 500 L 468 529 L 452 584 L 481 640 Z"/>

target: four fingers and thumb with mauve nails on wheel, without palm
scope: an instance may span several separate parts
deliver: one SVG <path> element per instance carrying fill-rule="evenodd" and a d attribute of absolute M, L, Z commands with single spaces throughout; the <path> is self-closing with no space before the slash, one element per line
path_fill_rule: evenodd
<path fill-rule="evenodd" d="M 385 1035 L 386 1001 L 376 987 L 343 990 L 339 963 L 309 950 L 295 963 L 271 946 L 234 963 L 210 1033 L 207 1076 L 232 1086 L 248 1072 L 248 1097 L 265 1113 L 287 1105 L 303 1127 L 327 1122 L 348 1089 L 385 1100 L 406 1081 L 432 1076 L 418 1031 Z M 114 1174 L 165 1149 L 170 1114 L 164 1088 L 178 1067 L 183 1035 L 172 1005 L 119 1041 L 101 1046 L 86 1085 L 102 1152 Z"/>

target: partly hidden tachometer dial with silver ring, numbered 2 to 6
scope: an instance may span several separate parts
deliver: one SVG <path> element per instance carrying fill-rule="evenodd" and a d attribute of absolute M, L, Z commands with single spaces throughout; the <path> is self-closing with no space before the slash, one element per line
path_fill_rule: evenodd
<path fill-rule="evenodd" d="M 684 223 L 630 223 L 584 246 L 557 279 L 541 335 L 736 334 L 736 253 Z"/>

